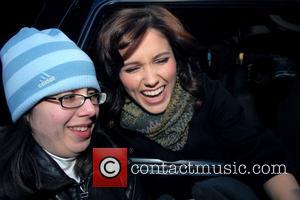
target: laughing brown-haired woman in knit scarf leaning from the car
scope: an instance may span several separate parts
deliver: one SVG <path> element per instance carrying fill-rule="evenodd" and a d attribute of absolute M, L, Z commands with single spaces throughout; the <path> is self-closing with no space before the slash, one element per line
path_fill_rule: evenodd
<path fill-rule="evenodd" d="M 256 164 L 256 169 L 286 164 L 285 152 L 272 135 L 249 126 L 222 84 L 201 72 L 206 54 L 178 18 L 163 7 L 144 6 L 115 10 L 106 19 L 97 42 L 108 94 L 103 127 L 130 147 L 132 156 L 227 164 L 215 174 L 222 177 L 150 173 L 143 178 L 154 197 L 256 199 L 243 181 L 264 188 L 271 199 L 300 199 L 297 181 L 285 173 L 291 172 L 288 167 L 278 174 L 251 171 Z M 234 171 L 235 162 L 246 171 Z"/>

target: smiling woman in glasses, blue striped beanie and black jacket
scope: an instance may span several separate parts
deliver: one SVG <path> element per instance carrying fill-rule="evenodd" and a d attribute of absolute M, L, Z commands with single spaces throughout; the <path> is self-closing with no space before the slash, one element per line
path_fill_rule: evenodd
<path fill-rule="evenodd" d="M 23 28 L 0 54 L 13 121 L 0 135 L 0 199 L 138 199 L 132 187 L 92 188 L 91 140 L 106 94 L 91 59 L 58 29 Z"/>

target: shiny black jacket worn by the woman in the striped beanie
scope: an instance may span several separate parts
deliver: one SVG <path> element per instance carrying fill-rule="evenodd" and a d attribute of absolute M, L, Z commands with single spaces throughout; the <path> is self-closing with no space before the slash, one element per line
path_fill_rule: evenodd
<path fill-rule="evenodd" d="M 68 177 L 58 164 L 38 145 L 32 149 L 36 158 L 35 181 L 28 180 L 31 191 L 14 190 L 1 200 L 80 200 L 80 199 L 109 199 L 109 200 L 141 200 L 145 199 L 135 177 L 129 177 L 127 188 L 93 188 L 91 174 L 81 177 L 77 183 Z"/>

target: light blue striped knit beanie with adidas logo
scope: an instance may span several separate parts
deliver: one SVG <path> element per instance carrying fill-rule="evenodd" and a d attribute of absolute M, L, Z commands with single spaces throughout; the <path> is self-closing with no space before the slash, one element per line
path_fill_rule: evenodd
<path fill-rule="evenodd" d="M 93 62 L 59 29 L 22 28 L 0 56 L 13 122 L 46 96 L 86 87 L 100 91 Z"/>

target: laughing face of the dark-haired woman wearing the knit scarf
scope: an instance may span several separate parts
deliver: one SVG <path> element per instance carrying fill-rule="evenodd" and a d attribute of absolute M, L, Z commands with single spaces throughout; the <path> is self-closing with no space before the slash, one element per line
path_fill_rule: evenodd
<path fill-rule="evenodd" d="M 119 76 L 129 96 L 149 113 L 164 112 L 176 83 L 176 60 L 167 39 L 149 29 L 138 50 L 124 60 Z"/>

